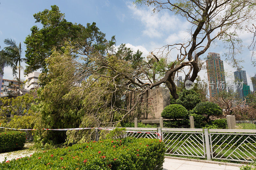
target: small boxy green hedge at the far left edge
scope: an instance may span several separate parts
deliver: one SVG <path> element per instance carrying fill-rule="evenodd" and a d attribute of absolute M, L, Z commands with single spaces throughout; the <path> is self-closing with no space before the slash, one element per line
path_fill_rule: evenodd
<path fill-rule="evenodd" d="M 23 148 L 26 140 L 26 133 L 9 131 L 0 133 L 0 152 L 8 152 Z"/>

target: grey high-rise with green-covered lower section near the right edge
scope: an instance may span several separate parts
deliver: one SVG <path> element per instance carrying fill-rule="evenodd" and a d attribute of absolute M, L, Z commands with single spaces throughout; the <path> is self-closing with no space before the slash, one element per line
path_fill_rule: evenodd
<path fill-rule="evenodd" d="M 237 68 L 234 72 L 234 77 L 238 98 L 244 100 L 245 96 L 250 93 L 250 86 L 247 84 L 246 71 L 241 68 Z"/>

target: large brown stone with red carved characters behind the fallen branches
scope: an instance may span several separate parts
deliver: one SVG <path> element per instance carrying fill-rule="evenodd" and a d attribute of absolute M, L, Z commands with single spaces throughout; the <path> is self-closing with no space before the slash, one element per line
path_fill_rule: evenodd
<path fill-rule="evenodd" d="M 127 109 L 132 108 L 137 94 L 140 92 L 130 92 L 126 95 Z M 140 108 L 141 115 L 137 115 L 136 112 L 132 111 L 131 117 L 138 117 L 138 119 L 159 119 L 164 107 L 170 105 L 170 91 L 163 88 L 151 89 L 147 93 L 140 96 L 137 107 Z M 136 114 L 136 115 L 135 115 Z"/>

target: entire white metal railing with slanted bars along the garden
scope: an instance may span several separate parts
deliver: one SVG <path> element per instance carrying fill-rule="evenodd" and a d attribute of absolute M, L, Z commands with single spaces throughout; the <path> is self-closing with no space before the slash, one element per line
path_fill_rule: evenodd
<path fill-rule="evenodd" d="M 125 136 L 162 139 L 165 154 L 173 156 L 256 161 L 256 130 L 126 128 Z"/>

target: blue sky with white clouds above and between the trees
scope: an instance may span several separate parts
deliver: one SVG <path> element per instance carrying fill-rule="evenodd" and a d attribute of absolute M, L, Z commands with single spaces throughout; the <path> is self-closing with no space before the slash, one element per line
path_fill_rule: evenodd
<path fill-rule="evenodd" d="M 132 1 L 124 0 L 0 0 L 0 46 L 5 47 L 3 40 L 12 38 L 16 42 L 21 42 L 23 45 L 23 56 L 26 49 L 23 41 L 30 34 L 30 28 L 35 23 L 34 13 L 43 11 L 45 8 L 50 9 L 51 5 L 58 5 L 60 11 L 65 13 L 65 18 L 73 23 L 96 22 L 96 25 L 103 33 L 106 33 L 109 39 L 112 35 L 116 35 L 117 45 L 126 43 L 128 47 L 134 50 L 140 49 L 146 56 L 154 48 L 162 47 L 163 45 L 183 42 L 186 39 L 186 29 L 189 24 L 178 16 L 175 16 L 169 11 L 160 11 L 152 15 L 151 9 L 148 7 L 135 8 Z M 242 55 L 245 63 L 241 65 L 247 73 L 247 81 L 250 77 L 256 74 L 256 68 L 250 63 L 251 55 L 247 46 L 252 41 L 251 34 L 243 33 L 241 38 L 244 41 L 244 50 Z M 206 57 L 208 52 L 216 52 L 223 55 L 225 49 L 219 41 L 216 46 L 212 46 L 202 56 Z M 173 54 L 174 59 L 177 54 Z M 222 60 L 224 58 L 222 57 Z M 25 63 L 22 63 L 25 67 Z M 228 72 L 229 77 L 234 78 L 232 68 L 224 62 L 224 69 Z M 207 79 L 205 70 L 202 70 L 199 75 L 203 79 Z M 182 75 L 184 78 L 184 75 Z M 22 76 L 21 76 L 22 77 Z M 4 78 L 12 78 L 10 68 L 4 69 Z M 227 77 L 227 81 L 230 80 Z M 252 90 L 252 84 L 249 83 Z"/>

